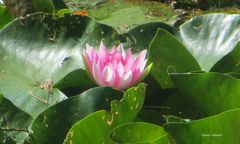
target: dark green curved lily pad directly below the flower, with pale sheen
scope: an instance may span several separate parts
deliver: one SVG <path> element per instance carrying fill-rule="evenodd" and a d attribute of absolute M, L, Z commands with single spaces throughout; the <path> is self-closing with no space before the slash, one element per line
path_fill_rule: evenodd
<path fill-rule="evenodd" d="M 120 100 L 122 92 L 96 87 L 62 101 L 41 113 L 32 124 L 30 143 L 61 144 L 74 123 L 99 109 L 110 109 L 112 100 Z"/>

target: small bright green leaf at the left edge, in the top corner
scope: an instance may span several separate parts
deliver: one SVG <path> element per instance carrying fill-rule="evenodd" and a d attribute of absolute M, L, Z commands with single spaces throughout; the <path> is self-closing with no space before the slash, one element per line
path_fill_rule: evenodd
<path fill-rule="evenodd" d="M 0 29 L 12 20 L 5 6 L 0 5 Z"/>

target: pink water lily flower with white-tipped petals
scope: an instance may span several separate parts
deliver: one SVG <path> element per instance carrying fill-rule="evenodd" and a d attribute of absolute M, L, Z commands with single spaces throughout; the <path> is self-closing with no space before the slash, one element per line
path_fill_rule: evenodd
<path fill-rule="evenodd" d="M 134 56 L 130 49 L 124 51 L 123 45 L 108 50 L 101 42 L 99 50 L 86 45 L 83 60 L 90 77 L 101 86 L 126 89 L 139 83 L 149 72 L 151 64 L 145 68 L 147 50 Z"/>

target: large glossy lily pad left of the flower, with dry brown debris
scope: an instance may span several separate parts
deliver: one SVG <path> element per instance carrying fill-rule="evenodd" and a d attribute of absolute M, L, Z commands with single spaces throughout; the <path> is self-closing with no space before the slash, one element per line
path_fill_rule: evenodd
<path fill-rule="evenodd" d="M 101 40 L 112 46 L 119 43 L 119 35 L 88 17 L 56 19 L 39 13 L 14 20 L 0 31 L 0 92 L 36 117 L 66 98 L 57 89 L 66 85 L 58 82 L 70 72 L 84 70 L 85 44 L 98 47 Z"/>

